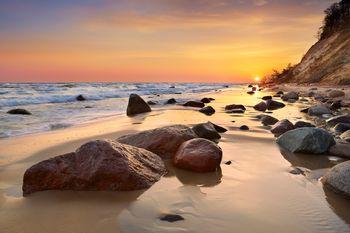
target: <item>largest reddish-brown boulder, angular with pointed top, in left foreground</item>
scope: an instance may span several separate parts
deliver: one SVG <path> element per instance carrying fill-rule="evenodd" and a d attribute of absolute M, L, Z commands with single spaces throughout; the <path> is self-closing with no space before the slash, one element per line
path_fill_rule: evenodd
<path fill-rule="evenodd" d="M 29 168 L 23 195 L 43 190 L 129 191 L 150 187 L 166 172 L 152 152 L 108 140 L 82 145 Z"/>

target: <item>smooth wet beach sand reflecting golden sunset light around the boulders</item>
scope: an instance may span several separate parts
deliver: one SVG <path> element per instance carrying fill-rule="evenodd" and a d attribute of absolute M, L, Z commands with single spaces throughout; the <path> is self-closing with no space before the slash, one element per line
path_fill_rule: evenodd
<path fill-rule="evenodd" d="M 350 232 L 350 200 L 324 190 L 320 176 L 339 158 L 280 151 L 252 106 L 268 93 L 242 88 L 206 95 L 217 113 L 206 116 L 171 106 L 134 118 L 117 116 L 79 127 L 0 140 L 0 232 Z M 200 97 L 199 97 L 200 98 Z M 227 114 L 227 104 L 244 104 L 245 114 Z M 273 112 L 279 119 L 303 118 L 297 102 Z M 226 127 L 221 170 L 196 174 L 173 168 L 148 190 L 135 192 L 45 191 L 22 197 L 26 168 L 75 150 L 91 139 L 171 124 L 212 121 Z M 232 121 L 235 121 L 234 123 Z M 250 131 L 240 131 L 241 125 Z M 225 162 L 232 161 L 231 165 Z M 292 166 L 310 169 L 289 173 Z M 185 220 L 163 222 L 163 213 Z"/>

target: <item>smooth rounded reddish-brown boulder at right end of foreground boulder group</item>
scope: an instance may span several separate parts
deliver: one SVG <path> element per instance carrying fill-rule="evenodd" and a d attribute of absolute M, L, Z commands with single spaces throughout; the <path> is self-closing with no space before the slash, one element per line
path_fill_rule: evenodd
<path fill-rule="evenodd" d="M 221 163 L 222 150 L 215 143 L 196 138 L 184 142 L 176 152 L 176 167 L 195 172 L 214 172 Z"/>

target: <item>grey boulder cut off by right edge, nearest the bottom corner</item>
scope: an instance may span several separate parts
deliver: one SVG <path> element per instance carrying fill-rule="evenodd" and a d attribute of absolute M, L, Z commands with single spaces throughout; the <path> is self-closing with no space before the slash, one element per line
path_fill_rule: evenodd
<path fill-rule="evenodd" d="M 334 166 L 321 181 L 332 191 L 350 197 L 350 161 Z"/>

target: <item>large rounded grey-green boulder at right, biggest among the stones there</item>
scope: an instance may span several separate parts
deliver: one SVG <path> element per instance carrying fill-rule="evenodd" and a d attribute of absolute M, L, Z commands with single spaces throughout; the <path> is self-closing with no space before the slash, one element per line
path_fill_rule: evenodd
<path fill-rule="evenodd" d="M 277 144 L 293 153 L 323 154 L 335 144 L 332 134 L 319 128 L 298 128 L 282 134 Z"/>

